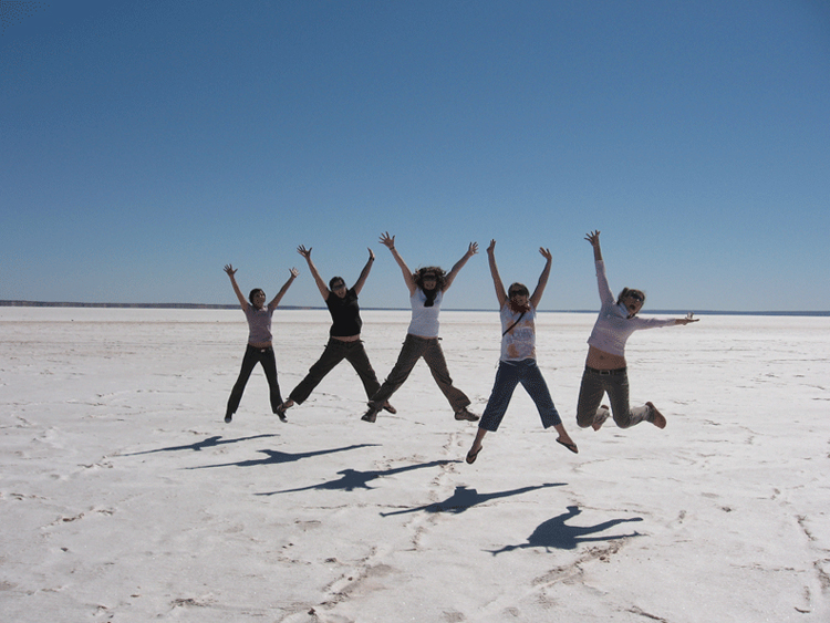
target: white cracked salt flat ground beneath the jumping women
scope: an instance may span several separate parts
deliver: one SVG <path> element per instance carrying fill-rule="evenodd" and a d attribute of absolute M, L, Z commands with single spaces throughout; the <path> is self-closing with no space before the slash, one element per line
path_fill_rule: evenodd
<path fill-rule="evenodd" d="M 408 315 L 365 312 L 378 375 Z M 498 315 L 442 315 L 449 370 L 480 413 Z M 830 321 L 704 316 L 637 335 L 632 399 L 668 426 L 594 433 L 573 424 L 593 320 L 538 320 L 580 454 L 518 390 L 469 466 L 475 424 L 453 418 L 423 365 L 374 425 L 347 366 L 287 425 L 257 372 L 225 425 L 238 313 L 2 309 L 0 616 L 827 621 Z M 324 311 L 274 315 L 283 388 L 328 329 Z"/>

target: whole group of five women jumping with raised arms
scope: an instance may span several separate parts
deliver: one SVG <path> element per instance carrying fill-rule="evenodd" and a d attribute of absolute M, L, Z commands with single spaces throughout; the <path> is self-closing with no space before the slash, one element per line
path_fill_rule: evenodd
<path fill-rule="evenodd" d="M 594 323 L 591 336 L 588 339 L 588 357 L 585 370 L 582 374 L 582 384 L 579 392 L 579 404 L 577 406 L 577 424 L 587 428 L 591 426 L 594 430 L 602 427 L 609 416 L 621 428 L 629 428 L 641 422 L 651 422 L 657 428 L 665 428 L 666 418 L 652 403 L 632 408 L 629 404 L 629 377 L 625 363 L 625 342 L 629 336 L 640 329 L 652 329 L 656 326 L 685 325 L 696 322 L 689 314 L 683 319 L 643 319 L 637 315 L 645 301 L 645 294 L 640 290 L 624 288 L 618 298 L 611 292 L 605 277 L 605 264 L 602 260 L 600 249 L 600 232 L 592 231 L 585 236 L 585 240 L 593 248 L 594 263 L 596 267 L 596 282 L 602 304 L 599 316 Z M 467 395 L 453 385 L 453 380 L 447 370 L 440 343 L 438 341 L 438 314 L 444 293 L 453 284 L 464 264 L 478 252 L 478 245 L 471 242 L 460 260 L 445 272 L 438 267 L 419 268 L 415 272 L 409 270 L 406 262 L 395 248 L 395 237 L 388 232 L 381 236 L 381 243 L 391 252 L 392 257 L 401 267 L 404 282 L 409 290 L 409 303 L 412 305 L 412 320 L 406 332 L 404 345 L 397 362 L 384 381 L 378 383 L 366 351 L 361 341 L 361 328 L 363 321 L 360 316 L 357 298 L 366 282 L 375 256 L 369 249 L 369 260 L 363 267 L 356 283 L 346 288 L 342 277 L 334 277 L 329 284 L 323 281 L 311 260 L 311 248 L 300 246 L 297 252 L 305 258 L 314 282 L 320 294 L 329 308 L 332 325 L 329 331 L 329 343 L 323 354 L 309 368 L 309 373 L 289 394 L 283 402 L 280 386 L 277 382 L 277 362 L 273 354 L 271 338 L 271 316 L 279 305 L 282 297 L 299 272 L 291 269 L 291 276 L 282 285 L 270 303 L 266 304 L 266 293 L 257 288 L 251 290 L 248 299 L 242 295 L 236 281 L 236 269 L 231 264 L 225 267 L 225 272 L 230 277 L 234 292 L 239 299 L 239 304 L 248 320 L 249 335 L 248 347 L 242 359 L 239 377 L 230 393 L 225 422 L 232 420 L 239 402 L 242 397 L 245 386 L 257 363 L 262 365 L 270 387 L 271 411 L 282 422 L 287 422 L 286 412 L 293 405 L 301 405 L 309 397 L 314 387 L 343 360 L 354 367 L 363 383 L 363 388 L 369 397 L 369 411 L 361 419 L 373 423 L 381 411 L 396 413 L 395 407 L 390 404 L 392 395 L 404 384 L 409 373 L 419 359 L 424 359 L 429 366 L 433 378 L 438 384 L 444 396 L 446 396 L 455 418 L 459 420 L 478 422 L 478 433 L 473 446 L 467 453 L 466 460 L 471 464 L 481 451 L 481 440 L 487 432 L 498 430 L 510 403 L 513 390 L 521 383 L 530 397 L 536 403 L 544 428 L 553 427 L 559 437 L 557 442 L 572 453 L 579 448 L 562 425 L 562 419 L 557 412 L 550 396 L 548 385 L 536 363 L 536 313 L 541 301 L 544 287 L 548 283 L 552 256 L 549 249 L 540 248 L 539 252 L 544 258 L 544 268 L 539 276 L 539 281 L 531 294 L 522 283 L 512 283 L 507 290 L 499 277 L 496 266 L 496 241 L 490 240 L 487 247 L 487 257 L 496 287 L 496 298 L 499 302 L 501 316 L 501 356 L 496 373 L 496 381 L 490 397 L 480 417 L 470 413 L 468 406 L 470 399 Z M 608 394 L 611 407 L 602 404 L 603 396 Z"/>

